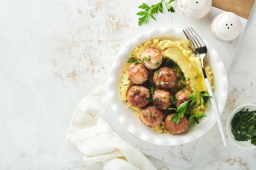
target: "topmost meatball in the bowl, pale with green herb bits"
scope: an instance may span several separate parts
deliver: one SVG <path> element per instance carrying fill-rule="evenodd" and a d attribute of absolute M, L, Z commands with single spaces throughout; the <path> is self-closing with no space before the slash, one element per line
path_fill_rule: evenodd
<path fill-rule="evenodd" d="M 146 47 L 142 51 L 140 57 L 141 57 L 141 60 L 144 62 L 144 65 L 148 69 L 158 68 L 163 61 L 162 52 L 153 46 Z"/>

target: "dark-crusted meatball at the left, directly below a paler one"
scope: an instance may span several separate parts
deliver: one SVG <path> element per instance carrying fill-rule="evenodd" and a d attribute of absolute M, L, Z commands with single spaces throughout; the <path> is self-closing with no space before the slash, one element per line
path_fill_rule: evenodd
<path fill-rule="evenodd" d="M 149 89 L 140 85 L 131 86 L 127 92 L 127 101 L 135 107 L 145 107 L 149 103 L 149 97 Z"/>

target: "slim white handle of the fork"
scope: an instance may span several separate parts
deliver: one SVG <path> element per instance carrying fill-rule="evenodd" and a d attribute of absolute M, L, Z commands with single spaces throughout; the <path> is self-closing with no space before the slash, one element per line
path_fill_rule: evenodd
<path fill-rule="evenodd" d="M 205 71 L 204 71 L 204 73 L 205 73 Z M 215 113 L 216 121 L 217 121 L 217 124 L 219 126 L 219 130 L 220 130 L 220 135 L 221 135 L 222 141 L 224 143 L 224 146 L 226 147 L 227 146 L 227 142 L 226 142 L 226 138 L 225 138 L 224 131 L 223 131 L 223 128 L 222 128 L 222 123 L 221 123 L 221 120 L 220 120 L 219 110 L 218 110 L 218 107 L 217 107 L 217 104 L 216 104 L 216 100 L 215 100 L 215 97 L 213 95 L 213 91 L 211 90 L 211 85 L 209 83 L 209 80 L 208 80 L 207 76 L 206 76 L 206 78 L 204 78 L 204 81 L 205 81 L 205 84 L 207 86 L 208 93 L 211 96 L 210 97 L 211 105 L 213 107 L 213 111 Z"/>

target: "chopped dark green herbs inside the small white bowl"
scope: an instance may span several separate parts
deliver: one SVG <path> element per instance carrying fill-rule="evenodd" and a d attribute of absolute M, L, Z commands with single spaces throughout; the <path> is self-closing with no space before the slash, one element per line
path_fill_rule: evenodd
<path fill-rule="evenodd" d="M 243 108 L 236 113 L 231 121 L 231 132 L 237 141 L 251 140 L 256 145 L 256 110 Z"/>

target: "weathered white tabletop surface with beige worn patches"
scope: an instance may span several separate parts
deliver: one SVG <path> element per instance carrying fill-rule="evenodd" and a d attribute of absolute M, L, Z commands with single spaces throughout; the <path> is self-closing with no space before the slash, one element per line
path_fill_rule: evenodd
<path fill-rule="evenodd" d="M 19 0 L 0 6 L 0 169 L 100 170 L 85 166 L 66 139 L 77 104 L 108 87 L 115 56 L 137 26 L 146 0 Z M 256 5 L 229 67 L 223 127 L 236 106 L 256 103 Z M 226 129 L 225 129 L 226 133 Z M 227 133 L 226 133 L 227 135 Z M 157 169 L 256 168 L 255 150 L 222 144 L 217 124 L 189 167 L 148 156 Z M 184 158 L 186 159 L 186 158 Z"/>

